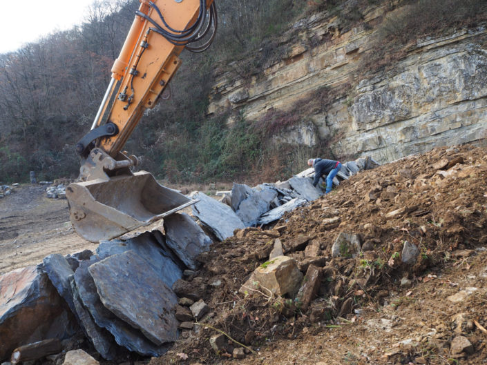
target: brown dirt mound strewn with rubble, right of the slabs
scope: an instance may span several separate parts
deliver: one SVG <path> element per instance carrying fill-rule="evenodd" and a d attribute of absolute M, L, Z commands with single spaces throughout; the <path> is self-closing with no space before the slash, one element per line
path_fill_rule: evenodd
<path fill-rule="evenodd" d="M 486 177 L 485 148 L 435 149 L 361 172 L 267 230 L 247 228 L 213 244 L 186 278 L 209 314 L 151 364 L 216 364 L 240 347 L 241 364 L 485 361 Z M 360 255 L 332 257 L 341 232 L 359 235 Z M 321 270 L 306 310 L 265 288 L 239 293 L 276 238 L 303 274 L 309 265 Z M 414 265 L 402 262 L 405 241 L 419 248 Z M 468 273 L 455 279 L 459 270 Z M 217 354 L 209 337 L 218 333 L 227 343 Z M 459 351 L 463 339 L 471 348 Z"/>

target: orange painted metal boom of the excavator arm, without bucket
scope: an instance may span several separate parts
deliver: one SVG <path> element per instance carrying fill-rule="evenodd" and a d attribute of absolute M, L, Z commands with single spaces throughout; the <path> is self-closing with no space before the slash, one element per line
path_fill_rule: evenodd
<path fill-rule="evenodd" d="M 147 5 L 146 0 L 141 2 L 139 10 L 165 28 L 157 12 Z M 155 0 L 153 2 L 160 8 L 171 28 L 187 29 L 198 19 L 199 0 L 180 2 Z M 207 0 L 207 7 L 212 2 L 213 0 Z M 144 110 L 155 106 L 157 98 L 180 66 L 178 56 L 184 47 L 173 45 L 156 32 L 148 33 L 151 27 L 153 24 L 149 21 L 139 16 L 135 17 L 120 56 L 112 68 L 113 78 L 122 80 L 116 96 L 123 92 L 127 95 L 127 99 L 131 95 L 133 99 L 127 106 L 127 101 L 115 98 L 108 121 L 116 124 L 119 132 L 113 137 L 102 137 L 97 141 L 97 147 L 102 148 L 111 157 L 115 157 L 122 150 Z M 149 44 L 145 50 L 141 46 L 143 41 Z M 137 75 L 131 75 L 129 72 L 134 64 L 137 65 Z"/>

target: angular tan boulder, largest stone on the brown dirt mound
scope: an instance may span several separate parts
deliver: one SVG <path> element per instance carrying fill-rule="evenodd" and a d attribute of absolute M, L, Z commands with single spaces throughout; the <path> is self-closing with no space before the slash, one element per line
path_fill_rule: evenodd
<path fill-rule="evenodd" d="M 274 295 L 296 294 L 303 280 L 303 273 L 298 269 L 296 260 L 287 256 L 265 262 L 254 273 L 256 282 Z"/>

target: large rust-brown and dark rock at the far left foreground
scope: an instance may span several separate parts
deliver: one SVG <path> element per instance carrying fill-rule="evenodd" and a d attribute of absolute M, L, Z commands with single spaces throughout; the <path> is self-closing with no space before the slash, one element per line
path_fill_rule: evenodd
<path fill-rule="evenodd" d="M 0 362 L 19 346 L 64 339 L 78 329 L 41 268 L 28 266 L 0 276 Z"/>

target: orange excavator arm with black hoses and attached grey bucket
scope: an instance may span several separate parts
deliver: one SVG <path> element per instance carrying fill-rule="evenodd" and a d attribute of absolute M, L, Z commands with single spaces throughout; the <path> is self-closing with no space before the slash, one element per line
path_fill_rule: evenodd
<path fill-rule="evenodd" d="M 149 172 L 133 174 L 137 158 L 122 148 L 178 70 L 182 50 L 210 46 L 216 15 L 213 0 L 140 0 L 93 126 L 76 145 L 82 166 L 66 197 L 71 222 L 85 239 L 118 237 L 195 202 Z"/>

